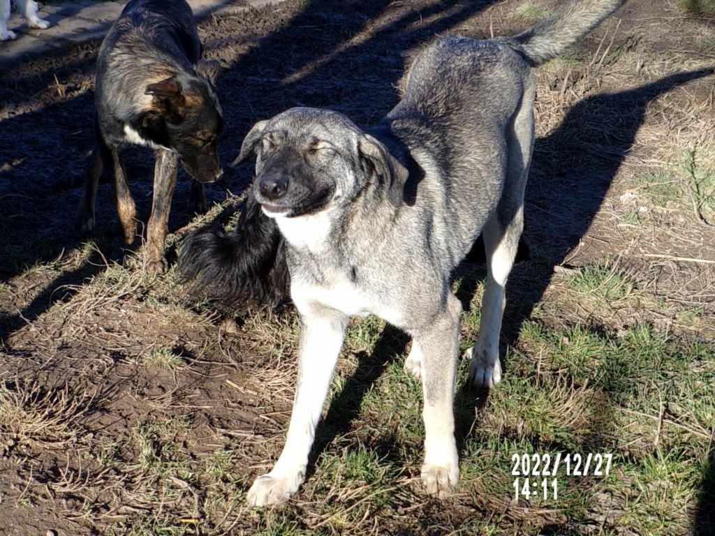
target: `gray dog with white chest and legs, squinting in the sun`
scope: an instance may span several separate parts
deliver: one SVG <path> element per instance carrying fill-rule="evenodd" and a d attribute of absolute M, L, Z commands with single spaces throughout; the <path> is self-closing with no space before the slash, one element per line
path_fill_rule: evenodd
<path fill-rule="evenodd" d="M 411 67 L 400 104 L 363 131 L 336 113 L 294 108 L 255 124 L 235 164 L 256 156 L 252 187 L 285 240 L 302 322 L 295 402 L 275 467 L 251 505 L 288 500 L 305 479 L 315 427 L 348 320 L 375 314 L 413 337 L 421 379 L 422 480 L 458 483 L 453 394 L 460 301 L 450 274 L 483 234 L 488 279 L 470 381 L 501 380 L 504 286 L 523 227 L 534 143 L 531 66 L 566 50 L 623 0 L 571 1 L 512 38 L 438 39 Z"/>

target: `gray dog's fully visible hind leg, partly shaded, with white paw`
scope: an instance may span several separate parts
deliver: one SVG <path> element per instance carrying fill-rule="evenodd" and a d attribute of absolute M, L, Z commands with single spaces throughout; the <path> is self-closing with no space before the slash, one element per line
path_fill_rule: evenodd
<path fill-rule="evenodd" d="M 527 82 L 532 82 L 531 77 Z M 523 230 L 524 189 L 533 150 L 533 89 L 522 97 L 521 109 L 507 132 L 508 164 L 501 200 L 483 229 L 487 284 L 477 344 L 468 349 L 469 381 L 476 387 L 501 382 L 499 334 L 506 306 L 506 280 L 514 264 Z"/>

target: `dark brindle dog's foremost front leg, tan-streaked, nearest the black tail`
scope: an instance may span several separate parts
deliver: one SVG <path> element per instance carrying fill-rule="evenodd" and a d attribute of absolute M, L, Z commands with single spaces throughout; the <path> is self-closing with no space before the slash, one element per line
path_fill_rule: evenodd
<path fill-rule="evenodd" d="M 174 152 L 157 149 L 154 163 L 154 203 L 147 225 L 147 269 L 164 274 L 169 269 L 164 258 L 164 239 L 169 232 L 169 210 L 172 207 L 174 186 L 177 184 L 179 157 Z"/>

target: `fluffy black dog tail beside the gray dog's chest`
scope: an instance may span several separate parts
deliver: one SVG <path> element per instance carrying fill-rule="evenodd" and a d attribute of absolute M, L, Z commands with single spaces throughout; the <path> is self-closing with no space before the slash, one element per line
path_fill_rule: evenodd
<path fill-rule="evenodd" d="M 232 232 L 212 224 L 187 237 L 179 272 L 192 293 L 238 309 L 279 304 L 290 287 L 285 242 L 251 192 Z"/>

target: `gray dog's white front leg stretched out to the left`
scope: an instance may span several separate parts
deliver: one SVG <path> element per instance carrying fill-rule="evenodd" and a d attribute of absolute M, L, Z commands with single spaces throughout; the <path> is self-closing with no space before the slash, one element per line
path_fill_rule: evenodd
<path fill-rule="evenodd" d="M 258 477 L 248 491 L 251 506 L 277 505 L 290 499 L 305 480 L 332 370 L 345 337 L 347 317 L 333 310 L 301 308 L 298 378 L 285 447 L 273 470 Z"/>

